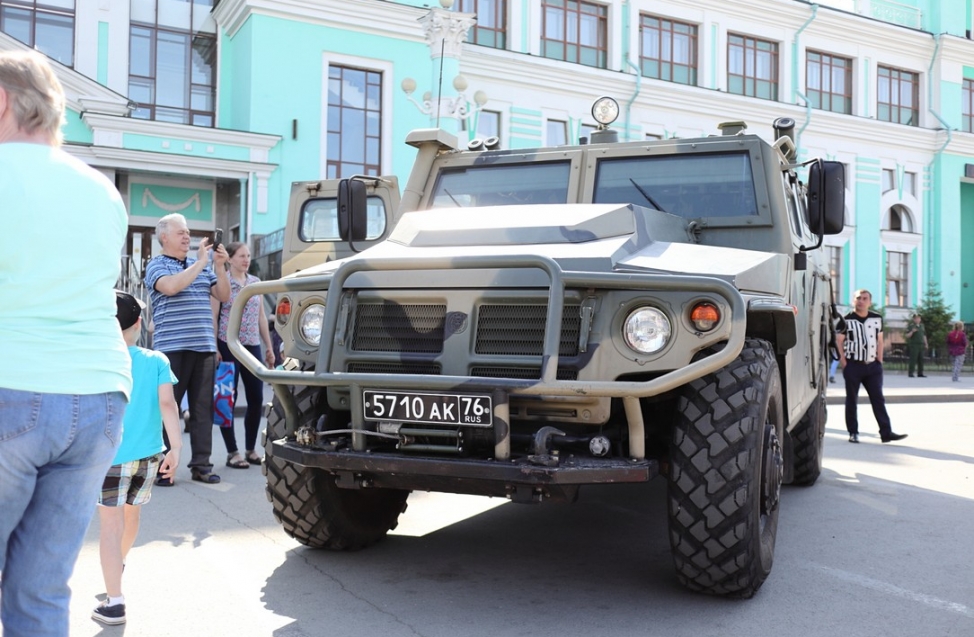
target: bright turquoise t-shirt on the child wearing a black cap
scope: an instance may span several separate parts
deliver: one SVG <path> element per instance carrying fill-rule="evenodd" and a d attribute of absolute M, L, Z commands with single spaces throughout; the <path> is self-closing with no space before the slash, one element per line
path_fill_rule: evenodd
<path fill-rule="evenodd" d="M 153 456 L 166 447 L 162 443 L 162 411 L 159 386 L 175 384 L 176 375 L 162 352 L 129 347 L 132 356 L 132 399 L 122 420 L 122 443 L 112 464 Z"/>

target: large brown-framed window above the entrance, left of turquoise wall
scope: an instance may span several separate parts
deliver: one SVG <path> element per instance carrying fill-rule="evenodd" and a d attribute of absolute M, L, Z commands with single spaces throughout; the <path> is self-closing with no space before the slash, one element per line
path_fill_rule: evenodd
<path fill-rule="evenodd" d="M 129 98 L 132 117 L 158 122 L 215 125 L 216 37 L 203 23 L 213 0 L 156 5 L 132 0 L 129 27 Z"/>

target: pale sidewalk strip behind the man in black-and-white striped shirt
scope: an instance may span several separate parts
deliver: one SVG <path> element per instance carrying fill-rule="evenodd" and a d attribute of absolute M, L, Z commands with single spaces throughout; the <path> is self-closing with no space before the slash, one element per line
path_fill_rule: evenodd
<path fill-rule="evenodd" d="M 888 372 L 883 377 L 883 395 L 887 403 L 957 403 L 974 402 L 974 376 L 961 375 L 958 382 L 950 379 L 949 372 L 927 372 L 926 378 L 910 378 L 906 372 Z M 825 391 L 828 404 L 845 402 L 845 382 L 841 370 L 835 382 Z M 866 390 L 859 390 L 859 404 L 869 404 Z"/>

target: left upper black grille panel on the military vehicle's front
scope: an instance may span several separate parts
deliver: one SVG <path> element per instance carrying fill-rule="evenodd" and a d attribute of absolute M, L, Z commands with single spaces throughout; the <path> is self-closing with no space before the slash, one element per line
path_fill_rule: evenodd
<path fill-rule="evenodd" d="M 439 354 L 445 318 L 445 305 L 362 303 L 355 308 L 352 349 Z"/>

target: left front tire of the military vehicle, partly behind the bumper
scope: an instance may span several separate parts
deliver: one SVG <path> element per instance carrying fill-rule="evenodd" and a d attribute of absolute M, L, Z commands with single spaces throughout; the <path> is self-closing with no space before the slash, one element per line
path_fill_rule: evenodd
<path fill-rule="evenodd" d="M 305 387 L 296 394 L 300 424 L 317 420 L 316 401 L 321 392 Z M 274 517 L 288 535 L 312 548 L 356 551 L 396 528 L 409 491 L 340 489 L 335 476 L 326 471 L 274 457 L 272 441 L 283 438 L 285 432 L 284 410 L 275 397 L 264 431 L 264 476 Z"/>

